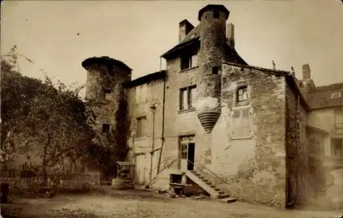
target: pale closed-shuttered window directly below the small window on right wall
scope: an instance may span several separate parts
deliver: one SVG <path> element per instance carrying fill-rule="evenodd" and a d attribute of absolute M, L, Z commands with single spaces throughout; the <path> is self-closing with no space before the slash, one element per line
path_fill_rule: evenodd
<path fill-rule="evenodd" d="M 249 108 L 235 109 L 232 118 L 232 136 L 250 137 Z"/>

